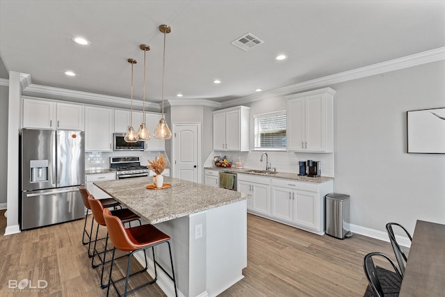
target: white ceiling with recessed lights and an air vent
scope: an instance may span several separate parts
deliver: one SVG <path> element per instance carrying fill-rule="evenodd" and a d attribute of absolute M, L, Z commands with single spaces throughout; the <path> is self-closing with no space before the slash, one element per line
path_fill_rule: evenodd
<path fill-rule="evenodd" d="M 445 1 L 0 0 L 0 57 L 36 85 L 125 98 L 127 58 L 136 58 L 133 97 L 142 99 L 139 45 L 147 44 L 146 100 L 159 102 L 160 24 L 172 28 L 165 99 L 224 102 L 444 47 Z M 231 45 L 245 33 L 264 43 Z M 78 35 L 90 45 L 75 44 Z M 275 61 L 277 54 L 288 58 Z"/>

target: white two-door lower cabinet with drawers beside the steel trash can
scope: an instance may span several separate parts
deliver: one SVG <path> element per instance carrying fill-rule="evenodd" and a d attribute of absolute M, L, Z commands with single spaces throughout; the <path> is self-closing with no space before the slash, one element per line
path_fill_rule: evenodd
<path fill-rule="evenodd" d="M 276 220 L 316 234 L 325 233 L 325 195 L 332 181 L 322 184 L 272 179 L 272 214 Z"/>

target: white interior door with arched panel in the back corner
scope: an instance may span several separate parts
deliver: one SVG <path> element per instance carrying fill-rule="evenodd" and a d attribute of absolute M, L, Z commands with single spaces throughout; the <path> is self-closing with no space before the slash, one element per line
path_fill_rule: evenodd
<path fill-rule="evenodd" d="M 200 182 L 200 123 L 173 124 L 173 177 Z"/>

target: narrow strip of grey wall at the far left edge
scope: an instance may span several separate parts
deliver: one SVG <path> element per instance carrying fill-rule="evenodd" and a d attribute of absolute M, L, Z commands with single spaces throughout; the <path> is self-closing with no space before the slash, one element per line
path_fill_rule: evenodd
<path fill-rule="evenodd" d="M 7 86 L 0 86 L 0 168 L 8 166 L 8 93 Z M 7 170 L 0 171 L 0 209 L 6 209 Z"/>

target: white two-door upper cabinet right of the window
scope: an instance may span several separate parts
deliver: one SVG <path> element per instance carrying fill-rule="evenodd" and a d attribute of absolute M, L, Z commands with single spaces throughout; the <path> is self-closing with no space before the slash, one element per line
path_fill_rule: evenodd
<path fill-rule="evenodd" d="M 333 152 L 335 90 L 323 88 L 285 97 L 287 150 Z"/>

